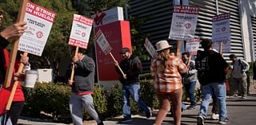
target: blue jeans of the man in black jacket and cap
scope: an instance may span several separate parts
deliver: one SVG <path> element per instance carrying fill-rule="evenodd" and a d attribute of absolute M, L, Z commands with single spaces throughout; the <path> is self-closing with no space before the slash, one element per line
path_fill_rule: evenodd
<path fill-rule="evenodd" d="M 138 104 L 138 107 L 142 109 L 145 113 L 150 112 L 150 108 L 139 98 L 139 83 L 134 84 L 122 84 L 122 98 L 123 106 L 122 113 L 125 119 L 131 119 L 130 114 L 130 96 Z"/>

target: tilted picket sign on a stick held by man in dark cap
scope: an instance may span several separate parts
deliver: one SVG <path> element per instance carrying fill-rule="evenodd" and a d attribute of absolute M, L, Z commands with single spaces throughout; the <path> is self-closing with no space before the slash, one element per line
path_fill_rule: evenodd
<path fill-rule="evenodd" d="M 104 33 L 102 33 L 101 29 L 99 29 L 98 32 L 95 34 L 94 39 L 98 43 L 99 48 L 102 49 L 102 52 L 105 54 L 109 53 L 113 61 L 116 62 L 113 54 L 111 53 L 112 48 L 110 46 L 110 43 L 106 40 L 106 37 Z M 122 73 L 122 76 L 125 76 L 125 73 L 122 72 L 122 68 L 120 68 L 119 64 L 117 64 L 117 66 L 120 72 Z"/>

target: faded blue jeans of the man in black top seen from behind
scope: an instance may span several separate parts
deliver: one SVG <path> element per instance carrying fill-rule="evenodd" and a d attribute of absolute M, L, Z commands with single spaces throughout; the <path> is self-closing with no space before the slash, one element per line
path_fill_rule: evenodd
<path fill-rule="evenodd" d="M 219 119 L 225 120 L 226 111 L 226 85 L 225 83 L 210 83 L 202 86 L 202 104 L 198 115 L 206 118 L 207 109 L 210 104 L 211 96 L 215 96 L 219 106 Z"/>

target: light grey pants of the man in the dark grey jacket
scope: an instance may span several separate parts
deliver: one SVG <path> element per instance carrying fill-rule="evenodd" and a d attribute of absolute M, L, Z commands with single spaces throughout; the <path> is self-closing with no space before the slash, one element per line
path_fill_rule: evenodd
<path fill-rule="evenodd" d="M 72 92 L 70 96 L 70 113 L 74 125 L 83 125 L 82 123 L 82 109 L 86 107 L 86 111 L 96 120 L 97 123 L 101 123 L 102 120 L 99 118 L 98 113 L 94 108 L 93 97 L 88 95 L 77 95 Z"/>

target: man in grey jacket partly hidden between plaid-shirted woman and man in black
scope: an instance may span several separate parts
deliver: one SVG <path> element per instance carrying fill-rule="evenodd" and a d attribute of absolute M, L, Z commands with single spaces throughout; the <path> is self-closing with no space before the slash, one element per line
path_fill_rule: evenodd
<path fill-rule="evenodd" d="M 188 72 L 182 75 L 182 79 L 186 93 L 190 98 L 190 106 L 187 107 L 187 109 L 190 110 L 197 107 L 197 102 L 194 97 L 194 88 L 198 80 L 198 71 L 195 68 L 194 61 L 190 60 L 190 53 L 182 53 L 182 61 L 184 64 L 186 64 L 186 67 L 189 69 Z"/>

